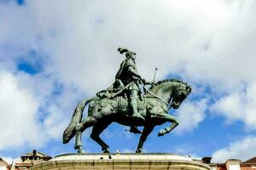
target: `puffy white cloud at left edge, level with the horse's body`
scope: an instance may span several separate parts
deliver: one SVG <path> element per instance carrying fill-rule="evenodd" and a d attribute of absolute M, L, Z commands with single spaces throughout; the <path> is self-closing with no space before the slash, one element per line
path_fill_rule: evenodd
<path fill-rule="evenodd" d="M 37 121 L 38 102 L 19 87 L 15 76 L 0 73 L 0 150 L 8 147 L 38 146 L 44 143 Z"/>

